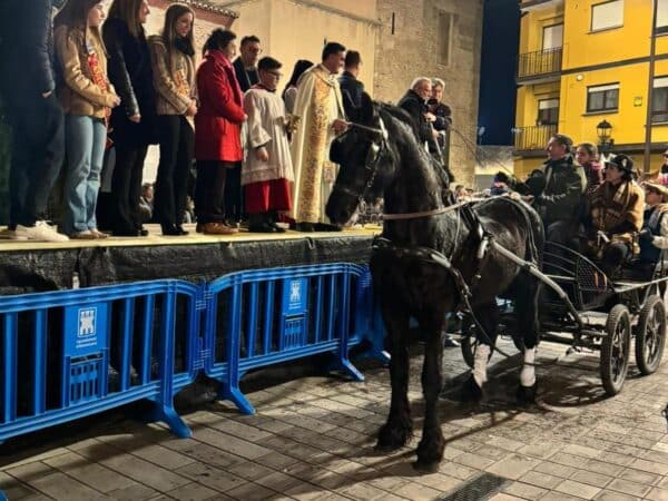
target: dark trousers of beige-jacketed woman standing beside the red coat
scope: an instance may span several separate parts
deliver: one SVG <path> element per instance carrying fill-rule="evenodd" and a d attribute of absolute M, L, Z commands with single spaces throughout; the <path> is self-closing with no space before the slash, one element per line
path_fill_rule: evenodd
<path fill-rule="evenodd" d="M 158 134 L 160 163 L 155 186 L 155 215 L 163 225 L 180 225 L 193 161 L 193 127 L 184 116 L 161 115 L 158 117 Z"/>

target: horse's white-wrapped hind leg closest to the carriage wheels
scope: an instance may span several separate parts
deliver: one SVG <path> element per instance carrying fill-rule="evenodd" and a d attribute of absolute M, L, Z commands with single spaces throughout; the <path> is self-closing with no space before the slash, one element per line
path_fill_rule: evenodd
<path fill-rule="evenodd" d="M 540 285 L 531 278 L 522 284 L 522 294 L 515 303 L 518 331 L 524 341 L 524 363 L 520 372 L 518 401 L 520 403 L 536 402 L 536 346 L 539 341 L 540 325 L 538 321 L 538 297 Z"/>

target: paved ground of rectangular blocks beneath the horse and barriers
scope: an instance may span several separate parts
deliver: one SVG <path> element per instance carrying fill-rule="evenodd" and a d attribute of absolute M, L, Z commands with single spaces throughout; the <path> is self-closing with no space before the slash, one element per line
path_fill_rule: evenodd
<path fill-rule="evenodd" d="M 136 421 L 96 424 L 0 456 L 0 490 L 10 500 L 432 500 L 489 472 L 508 479 L 492 497 L 499 501 L 668 500 L 668 364 L 648 377 L 633 367 L 607 399 L 598 356 L 564 356 L 563 346 L 543 343 L 538 361 L 556 364 L 538 371 L 538 405 L 514 404 L 519 356 L 494 355 L 485 400 L 472 407 L 450 399 L 466 370 L 459 350 L 445 353 L 448 444 L 433 474 L 411 465 L 422 424 L 415 354 L 416 438 L 392 454 L 373 450 L 390 389 L 387 371 L 371 367 L 364 383 L 305 377 L 250 393 L 257 415 L 206 405 L 186 415 L 189 440 Z"/>

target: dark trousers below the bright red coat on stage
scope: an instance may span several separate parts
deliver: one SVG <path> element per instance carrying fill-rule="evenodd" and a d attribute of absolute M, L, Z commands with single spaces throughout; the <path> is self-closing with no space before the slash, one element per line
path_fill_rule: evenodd
<path fill-rule="evenodd" d="M 195 214 L 197 223 L 225 222 L 225 187 L 232 164 L 220 160 L 197 160 Z"/>

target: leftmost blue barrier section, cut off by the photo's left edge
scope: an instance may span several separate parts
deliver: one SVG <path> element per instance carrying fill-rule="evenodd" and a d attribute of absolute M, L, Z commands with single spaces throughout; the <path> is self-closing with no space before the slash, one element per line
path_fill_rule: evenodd
<path fill-rule="evenodd" d="M 190 436 L 173 396 L 195 373 L 198 291 L 155 281 L 0 297 L 0 443 L 141 399 Z"/>

